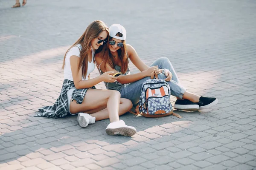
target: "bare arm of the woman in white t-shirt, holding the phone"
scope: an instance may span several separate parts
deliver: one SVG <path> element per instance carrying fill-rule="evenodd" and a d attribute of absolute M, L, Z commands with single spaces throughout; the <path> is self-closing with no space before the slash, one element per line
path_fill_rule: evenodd
<path fill-rule="evenodd" d="M 102 81 L 105 81 L 105 82 L 116 81 L 117 77 L 113 77 L 109 75 L 109 74 L 112 74 L 112 72 L 106 72 L 105 74 L 102 74 L 101 76 L 95 77 L 93 79 L 82 80 L 82 69 L 80 68 L 78 70 L 79 60 L 80 58 L 78 56 L 70 57 L 71 72 L 72 72 L 72 77 L 73 77 L 76 89 L 90 88 Z"/>

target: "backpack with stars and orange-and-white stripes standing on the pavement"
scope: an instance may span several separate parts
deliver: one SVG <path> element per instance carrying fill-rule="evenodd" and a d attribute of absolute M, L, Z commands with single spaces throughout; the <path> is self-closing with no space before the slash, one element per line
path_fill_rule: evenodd
<path fill-rule="evenodd" d="M 164 117 L 173 114 L 182 118 L 180 115 L 173 113 L 170 95 L 169 84 L 163 79 L 158 79 L 157 74 L 153 72 L 151 79 L 143 82 L 140 100 L 136 107 L 136 115 L 140 113 L 145 117 Z"/>

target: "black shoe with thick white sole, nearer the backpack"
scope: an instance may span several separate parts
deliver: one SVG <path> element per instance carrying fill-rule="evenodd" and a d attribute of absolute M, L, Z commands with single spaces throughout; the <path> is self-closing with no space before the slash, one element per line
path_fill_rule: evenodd
<path fill-rule="evenodd" d="M 198 111 L 199 105 L 187 99 L 183 99 L 183 100 L 176 100 L 173 108 L 175 108 L 176 110 L 182 110 L 182 111 Z"/>

